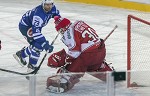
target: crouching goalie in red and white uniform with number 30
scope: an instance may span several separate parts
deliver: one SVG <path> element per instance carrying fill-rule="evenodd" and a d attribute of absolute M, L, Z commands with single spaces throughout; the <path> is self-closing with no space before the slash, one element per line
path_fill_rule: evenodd
<path fill-rule="evenodd" d="M 68 47 L 53 53 L 48 66 L 59 68 L 57 75 L 47 79 L 50 92 L 62 93 L 73 88 L 87 72 L 106 81 L 106 71 L 113 69 L 105 62 L 106 49 L 103 39 L 84 21 L 71 23 L 67 18 L 54 17 L 55 28 L 61 33 L 61 41 Z M 91 74 L 103 72 L 104 74 Z"/>

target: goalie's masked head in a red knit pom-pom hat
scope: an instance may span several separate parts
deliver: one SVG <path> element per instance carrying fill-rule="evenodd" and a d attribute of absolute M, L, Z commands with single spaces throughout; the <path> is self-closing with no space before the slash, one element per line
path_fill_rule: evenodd
<path fill-rule="evenodd" d="M 67 18 L 62 18 L 60 16 L 55 16 L 54 17 L 54 23 L 55 23 L 55 28 L 58 32 L 61 34 L 64 34 L 64 32 L 68 29 L 70 26 L 71 22 Z"/>

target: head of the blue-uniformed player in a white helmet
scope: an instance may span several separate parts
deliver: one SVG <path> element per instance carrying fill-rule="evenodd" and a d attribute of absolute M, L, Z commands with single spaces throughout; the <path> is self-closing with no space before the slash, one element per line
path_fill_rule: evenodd
<path fill-rule="evenodd" d="M 43 0 L 42 1 L 42 6 L 43 6 L 43 9 L 45 12 L 50 11 L 53 7 L 53 4 L 54 4 L 53 0 Z"/>

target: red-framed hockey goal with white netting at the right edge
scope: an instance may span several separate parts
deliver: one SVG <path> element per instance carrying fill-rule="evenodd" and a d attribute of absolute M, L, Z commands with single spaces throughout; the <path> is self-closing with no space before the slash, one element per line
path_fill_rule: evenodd
<path fill-rule="evenodd" d="M 127 87 L 150 86 L 150 22 L 127 19 Z"/>

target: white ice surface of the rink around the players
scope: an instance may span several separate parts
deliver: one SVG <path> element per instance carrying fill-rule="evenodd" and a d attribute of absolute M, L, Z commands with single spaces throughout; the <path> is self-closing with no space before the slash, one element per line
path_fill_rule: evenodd
<path fill-rule="evenodd" d="M 19 32 L 18 23 L 24 12 L 40 3 L 41 0 L 0 0 L 0 40 L 2 41 L 0 68 L 26 72 L 26 67 L 20 67 L 12 56 L 22 47 L 28 46 L 28 43 Z M 126 70 L 127 16 L 129 14 L 148 16 L 148 13 L 64 1 L 56 1 L 55 4 L 62 17 L 69 18 L 72 22 L 75 20 L 87 22 L 97 31 L 101 38 L 105 38 L 114 26 L 118 25 L 118 28 L 106 41 L 106 60 L 108 63 L 112 63 L 116 71 Z M 49 24 L 43 28 L 42 33 L 50 42 L 55 38 L 57 32 L 55 31 L 53 20 L 50 20 Z M 61 43 L 59 37 L 54 43 L 54 52 L 62 48 L 66 47 Z M 44 54 L 45 52 L 42 53 L 39 63 Z M 48 54 L 47 58 L 49 56 L 50 54 Z M 46 79 L 56 72 L 56 69 L 47 67 L 47 58 L 37 75 L 37 96 L 107 96 L 106 84 L 87 74 L 80 83 L 67 93 L 54 94 L 47 92 L 45 90 Z M 0 96 L 27 96 L 28 88 L 29 82 L 24 76 L 0 71 Z M 140 94 L 136 89 L 126 88 L 126 82 L 117 83 L 115 86 L 115 96 L 146 96 L 148 93 Z"/>

